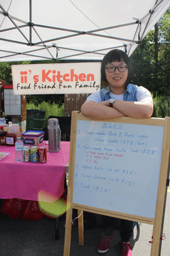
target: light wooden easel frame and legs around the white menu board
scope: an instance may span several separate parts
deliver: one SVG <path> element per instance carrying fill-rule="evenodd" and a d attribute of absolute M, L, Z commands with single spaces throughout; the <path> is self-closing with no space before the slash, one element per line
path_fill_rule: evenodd
<path fill-rule="evenodd" d="M 74 186 L 74 168 L 75 168 L 75 146 L 77 136 L 77 123 L 78 120 L 89 120 L 98 122 L 120 123 L 120 124 L 141 124 L 148 126 L 163 126 L 163 150 L 161 154 L 160 176 L 158 180 L 158 195 L 156 203 L 155 218 L 146 218 L 141 216 L 133 216 L 129 214 L 123 214 L 119 212 L 113 212 L 110 210 L 103 210 L 101 208 L 92 208 L 88 205 L 79 205 L 73 203 L 73 186 Z M 155 138 L 156 139 L 156 138 Z M 79 244 L 84 245 L 84 221 L 83 211 L 93 212 L 97 214 L 103 214 L 106 216 L 112 216 L 116 218 L 124 218 L 130 221 L 136 221 L 141 223 L 148 223 L 153 225 L 153 240 L 150 256 L 158 256 L 160 245 L 160 232 L 163 222 L 163 208 L 165 203 L 165 193 L 167 184 L 167 173 L 169 167 L 169 150 L 170 150 L 170 117 L 165 118 L 148 118 L 148 119 L 133 119 L 131 117 L 120 117 L 113 119 L 88 119 L 84 117 L 78 111 L 72 112 L 71 117 L 71 142 L 70 142 L 70 154 L 69 154 L 69 182 L 68 182 L 68 197 L 67 202 L 71 205 L 66 214 L 66 227 L 65 227 L 65 247 L 64 256 L 69 256 L 70 244 L 71 244 L 71 221 L 73 209 L 78 210 L 78 231 L 79 231 Z M 81 214 L 82 213 L 82 214 Z"/>

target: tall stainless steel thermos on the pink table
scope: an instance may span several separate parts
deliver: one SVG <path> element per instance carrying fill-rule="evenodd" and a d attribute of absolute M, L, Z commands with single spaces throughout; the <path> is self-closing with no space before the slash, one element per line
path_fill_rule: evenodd
<path fill-rule="evenodd" d="M 48 150 L 49 152 L 61 150 L 61 129 L 57 118 L 48 119 Z"/>

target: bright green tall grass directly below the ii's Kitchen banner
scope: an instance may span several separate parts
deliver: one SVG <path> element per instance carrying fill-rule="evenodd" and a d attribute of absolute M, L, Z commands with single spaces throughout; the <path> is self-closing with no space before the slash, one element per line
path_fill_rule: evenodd
<path fill-rule="evenodd" d="M 48 122 L 48 117 L 50 115 L 62 117 L 64 115 L 65 106 L 62 104 L 59 106 L 54 102 L 50 104 L 49 102 L 41 102 L 40 104 L 33 104 L 32 102 L 27 103 L 27 109 L 41 109 L 46 111 L 46 124 Z"/>

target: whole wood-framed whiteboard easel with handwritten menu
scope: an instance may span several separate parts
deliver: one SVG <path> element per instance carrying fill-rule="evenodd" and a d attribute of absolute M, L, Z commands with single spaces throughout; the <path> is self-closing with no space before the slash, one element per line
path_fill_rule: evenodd
<path fill-rule="evenodd" d="M 170 117 L 88 119 L 71 116 L 68 203 L 64 256 L 69 255 L 72 210 L 84 244 L 83 211 L 154 226 L 157 256 L 169 165 Z"/>

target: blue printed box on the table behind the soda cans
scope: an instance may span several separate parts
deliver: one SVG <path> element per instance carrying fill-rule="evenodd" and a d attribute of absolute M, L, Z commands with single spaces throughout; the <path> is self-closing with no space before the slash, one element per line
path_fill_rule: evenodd
<path fill-rule="evenodd" d="M 38 146 L 44 141 L 44 132 L 41 130 L 27 130 L 22 134 L 24 145 Z"/>

